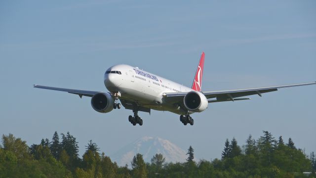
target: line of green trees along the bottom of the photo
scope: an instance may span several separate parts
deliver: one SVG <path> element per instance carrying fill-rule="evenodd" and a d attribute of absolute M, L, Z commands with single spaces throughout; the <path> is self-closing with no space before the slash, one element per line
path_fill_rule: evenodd
<path fill-rule="evenodd" d="M 257 140 L 248 136 L 245 145 L 226 139 L 221 159 L 194 161 L 194 149 L 188 149 L 184 163 L 166 163 L 156 154 L 150 163 L 136 154 L 127 165 L 119 167 L 98 145 L 89 140 L 82 158 L 76 137 L 57 132 L 52 139 L 28 146 L 13 134 L 2 135 L 0 178 L 316 178 L 314 152 L 306 155 L 293 140 L 285 143 L 267 131 Z"/>

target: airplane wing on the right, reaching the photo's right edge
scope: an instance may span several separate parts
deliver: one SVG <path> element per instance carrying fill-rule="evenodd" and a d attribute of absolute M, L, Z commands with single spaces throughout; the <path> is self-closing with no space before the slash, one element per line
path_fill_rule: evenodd
<path fill-rule="evenodd" d="M 223 102 L 223 101 L 237 101 L 245 100 L 250 98 L 238 98 L 242 96 L 248 96 L 253 94 L 258 94 L 262 96 L 262 93 L 277 91 L 277 89 L 288 88 L 288 87 L 298 87 L 298 86 L 307 86 L 314 85 L 316 82 L 303 83 L 303 84 L 292 84 L 292 85 L 282 85 L 282 86 L 272 86 L 272 87 L 259 87 L 259 88 L 250 88 L 250 89 L 229 89 L 229 90 L 215 90 L 215 91 L 202 91 L 205 97 L 208 99 L 209 103 L 212 102 Z M 178 92 L 178 93 L 164 93 L 163 96 L 170 100 L 178 100 L 183 102 L 183 97 L 187 92 Z M 210 100 L 211 98 L 216 98 L 216 100 Z"/>

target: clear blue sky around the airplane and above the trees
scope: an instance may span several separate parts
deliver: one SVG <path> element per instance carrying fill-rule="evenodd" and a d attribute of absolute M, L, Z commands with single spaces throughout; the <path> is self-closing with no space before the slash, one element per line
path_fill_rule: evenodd
<path fill-rule="evenodd" d="M 179 116 L 95 112 L 90 98 L 33 84 L 106 90 L 103 74 L 129 64 L 191 86 L 205 51 L 203 90 L 316 81 L 316 1 L 1 1 L 0 134 L 29 145 L 71 134 L 111 155 L 139 137 L 159 136 L 198 159 L 220 158 L 226 138 L 244 144 L 269 131 L 316 151 L 316 86 L 280 89 L 252 100 L 213 103 L 184 127 Z"/>

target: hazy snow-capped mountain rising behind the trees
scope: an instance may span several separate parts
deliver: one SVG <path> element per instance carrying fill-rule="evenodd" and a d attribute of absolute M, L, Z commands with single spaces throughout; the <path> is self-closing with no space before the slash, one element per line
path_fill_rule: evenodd
<path fill-rule="evenodd" d="M 185 162 L 186 152 L 169 140 L 159 137 L 144 136 L 136 141 L 126 145 L 111 157 L 112 161 L 118 163 L 118 166 L 130 165 L 133 157 L 140 153 L 145 162 L 150 162 L 156 153 L 161 153 L 165 157 L 165 162 Z"/>

